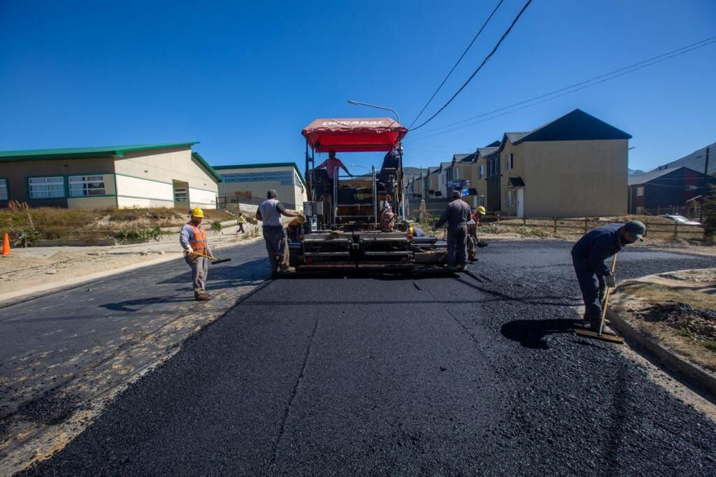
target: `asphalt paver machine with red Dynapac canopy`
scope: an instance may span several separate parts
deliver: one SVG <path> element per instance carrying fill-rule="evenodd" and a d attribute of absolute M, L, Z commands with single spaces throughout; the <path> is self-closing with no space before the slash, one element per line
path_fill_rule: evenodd
<path fill-rule="evenodd" d="M 289 233 L 291 265 L 309 269 L 439 270 L 445 241 L 407 220 L 401 141 L 407 129 L 387 117 L 318 119 L 306 139 L 306 221 Z M 382 166 L 350 177 L 317 168 L 316 153 L 386 153 Z M 355 172 L 355 171 L 353 171 Z M 291 229 L 289 228 L 289 232 Z"/>

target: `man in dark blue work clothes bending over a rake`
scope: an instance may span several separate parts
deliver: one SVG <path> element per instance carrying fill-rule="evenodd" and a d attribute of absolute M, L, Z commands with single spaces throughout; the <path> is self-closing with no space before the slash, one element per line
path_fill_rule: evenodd
<path fill-rule="evenodd" d="M 585 233 L 572 247 L 572 263 L 584 299 L 584 319 L 589 329 L 599 331 L 606 287 L 616 286 L 614 275 L 604 261 L 625 245 L 643 241 L 646 232 L 647 227 L 639 221 L 612 223 Z"/>

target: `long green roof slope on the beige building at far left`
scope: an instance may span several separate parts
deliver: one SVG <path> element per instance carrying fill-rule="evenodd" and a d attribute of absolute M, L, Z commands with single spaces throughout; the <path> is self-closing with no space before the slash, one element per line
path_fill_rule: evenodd
<path fill-rule="evenodd" d="M 0 151 L 0 162 L 18 162 L 21 160 L 86 159 L 119 156 L 120 158 L 135 150 L 150 150 L 192 146 L 199 141 L 187 143 L 155 143 L 121 146 L 95 146 L 92 148 L 30 149 Z"/>

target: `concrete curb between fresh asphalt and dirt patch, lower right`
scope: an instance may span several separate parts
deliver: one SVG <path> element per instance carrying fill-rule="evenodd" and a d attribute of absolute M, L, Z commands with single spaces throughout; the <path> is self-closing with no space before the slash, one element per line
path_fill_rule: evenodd
<path fill-rule="evenodd" d="M 710 397 L 716 398 L 715 376 L 711 375 L 702 367 L 683 360 L 682 357 L 675 355 L 661 344 L 644 336 L 644 334 L 640 333 L 637 329 L 634 329 L 627 320 L 619 316 L 619 313 L 615 312 L 614 308 L 607 309 L 606 314 L 611 320 L 611 327 L 616 328 L 624 339 L 629 342 L 630 346 L 651 353 L 662 362 L 667 370 L 679 373 L 679 375 L 685 378 L 685 382 L 697 388 L 697 390 L 710 395 Z"/>

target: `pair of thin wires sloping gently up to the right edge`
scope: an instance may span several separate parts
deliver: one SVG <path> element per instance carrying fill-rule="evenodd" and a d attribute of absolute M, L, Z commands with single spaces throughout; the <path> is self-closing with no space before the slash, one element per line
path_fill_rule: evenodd
<path fill-rule="evenodd" d="M 653 58 L 650 58 L 650 59 L 646 59 L 646 60 L 644 60 L 644 61 L 642 61 L 642 62 L 638 62 L 638 63 L 631 64 L 631 65 L 629 65 L 628 67 L 624 67 L 624 68 L 620 68 L 620 69 L 615 69 L 615 70 L 612 71 L 612 72 L 609 72 L 609 73 L 606 73 L 606 74 L 601 74 L 601 75 L 599 75 L 599 76 L 597 76 L 597 77 L 591 78 L 591 80 L 585 80 L 585 81 L 582 81 L 582 82 L 579 82 L 579 83 L 575 83 L 574 85 L 566 86 L 566 87 L 560 88 L 559 90 L 554 90 L 554 91 L 552 91 L 552 92 L 548 92 L 548 93 L 545 93 L 545 94 L 543 94 L 543 95 L 539 95 L 539 96 L 533 97 L 533 98 L 531 98 L 531 99 L 529 99 L 529 100 L 524 100 L 524 101 L 521 101 L 521 102 L 516 102 L 516 103 L 514 103 L 513 105 L 509 105 L 509 106 L 505 106 L 505 107 L 500 107 L 500 108 L 498 108 L 498 109 L 496 109 L 496 110 L 492 110 L 492 111 L 489 111 L 489 112 L 483 112 L 483 113 L 480 114 L 480 115 L 473 116 L 473 117 L 469 117 L 468 119 L 456 121 L 456 122 L 450 123 L 449 125 L 437 127 L 437 128 L 435 128 L 434 130 L 426 131 L 425 133 L 422 133 L 422 135 L 418 135 L 417 138 L 411 137 L 410 140 L 424 140 L 424 139 L 427 139 L 427 138 L 433 138 L 433 137 L 435 137 L 435 136 L 437 136 L 437 135 L 442 135 L 442 134 L 445 134 L 445 133 L 451 133 L 451 132 L 453 132 L 453 131 L 455 131 L 455 130 L 463 129 L 464 127 L 469 127 L 469 126 L 473 126 L 473 125 L 479 124 L 480 122 L 485 122 L 485 121 L 493 120 L 493 119 L 495 119 L 495 118 L 497 118 L 497 117 L 500 117 L 500 116 L 504 116 L 504 115 L 511 114 L 511 113 L 513 113 L 513 112 L 521 111 L 521 110 L 524 110 L 524 109 L 526 109 L 526 108 L 528 108 L 528 107 L 540 105 L 540 104 L 542 104 L 543 102 L 555 100 L 555 99 L 558 98 L 558 97 L 562 97 L 562 96 L 565 96 L 565 95 L 569 95 L 570 93 L 577 92 L 577 91 L 581 91 L 581 90 L 584 90 L 585 88 L 592 87 L 592 86 L 596 86 L 596 85 L 599 85 L 600 83 L 603 83 L 603 82 L 606 82 L 606 81 L 609 81 L 609 80 L 614 80 L 614 79 L 616 79 L 616 78 L 618 78 L 618 77 L 624 76 L 624 74 L 629 74 L 629 73 L 636 72 L 636 71 L 638 71 L 639 69 L 643 69 L 643 68 L 652 66 L 652 65 L 654 65 L 654 64 L 657 64 L 657 63 L 660 63 L 660 62 L 664 62 L 664 61 L 666 61 L 667 59 L 672 59 L 672 58 L 674 58 L 674 57 L 678 57 L 678 56 L 680 56 L 680 55 L 682 55 L 682 54 L 686 54 L 686 53 L 688 53 L 688 52 L 692 52 L 692 51 L 694 51 L 695 49 L 700 49 L 700 48 L 702 48 L 702 47 L 707 47 L 708 45 L 714 44 L 714 43 L 716 43 L 716 37 L 707 38 L 707 39 L 705 39 L 705 40 L 702 40 L 701 42 L 697 42 L 697 43 L 694 43 L 694 44 L 690 44 L 690 45 L 688 45 L 687 47 L 681 47 L 681 48 L 676 49 L 676 50 L 674 50 L 674 51 L 672 51 L 672 52 L 660 54 L 660 55 L 657 56 L 657 57 L 653 57 Z M 618 73 L 618 74 L 617 74 L 617 73 Z M 597 80 L 599 80 L 599 81 L 597 81 Z M 579 87 L 579 86 L 581 86 L 581 87 Z M 575 88 L 576 88 L 576 89 L 575 89 Z M 558 93 L 558 92 L 562 92 L 562 94 L 557 95 L 556 93 Z M 551 97 L 549 97 L 549 96 L 551 96 Z M 541 99 L 541 98 L 545 98 L 545 97 L 546 97 L 546 99 L 544 99 L 544 100 L 541 100 L 541 101 L 538 101 L 538 102 L 533 102 L 533 101 L 535 101 L 535 100 L 538 100 L 538 99 Z M 532 104 L 527 104 L 527 105 L 525 105 L 526 103 L 532 103 Z M 519 106 L 519 105 L 525 105 L 525 106 L 523 106 L 523 107 L 518 107 L 517 109 L 511 110 L 511 108 L 516 107 L 516 106 Z M 453 128 L 451 128 L 451 129 L 448 129 L 448 130 L 445 130 L 445 131 L 441 131 L 441 132 L 439 132 L 439 133 L 436 132 L 436 131 L 439 131 L 439 130 L 441 130 L 441 129 L 444 129 L 445 127 L 450 127 L 450 126 L 452 126 L 452 125 L 458 125 L 458 124 L 460 124 L 460 123 L 462 123 L 462 122 L 475 120 L 475 119 L 478 119 L 478 118 L 480 118 L 480 117 L 485 117 L 485 116 L 488 116 L 488 115 L 492 115 L 492 114 L 495 113 L 495 112 L 500 112 L 500 111 L 504 111 L 504 110 L 510 110 L 510 111 L 502 112 L 502 113 L 500 113 L 500 114 L 498 114 L 498 115 L 493 115 L 493 116 L 490 116 L 490 117 L 486 117 L 486 118 L 483 119 L 483 120 L 470 122 L 470 123 L 465 124 L 465 125 L 462 125 L 462 126 L 453 127 Z M 435 134 L 432 134 L 432 133 L 435 133 Z"/>

